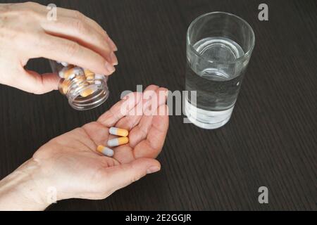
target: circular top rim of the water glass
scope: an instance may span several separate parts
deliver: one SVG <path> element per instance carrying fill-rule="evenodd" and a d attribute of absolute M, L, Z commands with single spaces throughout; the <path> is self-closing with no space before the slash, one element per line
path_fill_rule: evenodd
<path fill-rule="evenodd" d="M 251 47 L 249 48 L 249 50 L 244 53 L 242 56 L 240 56 L 239 58 L 236 58 L 235 60 L 230 60 L 230 61 L 223 61 L 223 60 L 210 60 L 208 58 L 206 58 L 206 56 L 201 55 L 201 53 L 199 53 L 198 51 L 196 51 L 196 49 L 194 48 L 194 46 L 192 45 L 192 42 L 189 40 L 189 31 L 192 30 L 192 27 L 197 23 L 198 20 L 200 20 L 201 18 L 204 18 L 208 15 L 213 15 L 213 14 L 223 14 L 223 15 L 230 15 L 235 17 L 237 20 L 241 20 L 242 23 L 244 23 L 245 25 L 247 25 L 247 27 L 249 28 L 249 30 L 251 30 L 251 38 L 252 38 L 252 44 Z M 249 23 L 247 23 L 246 20 L 240 18 L 240 16 L 237 16 L 235 14 L 232 13 L 226 13 L 226 12 L 221 12 L 221 11 L 215 11 L 215 12 L 211 12 L 211 13 L 205 13 L 203 15 L 199 15 L 199 17 L 195 18 L 192 23 L 190 23 L 188 29 L 187 29 L 187 34 L 186 34 L 186 39 L 187 39 L 187 45 L 190 47 L 191 51 L 193 51 L 197 56 L 204 58 L 206 61 L 208 61 L 209 63 L 226 63 L 226 64 L 230 64 L 230 63 L 237 63 L 241 60 L 243 60 L 244 58 L 247 58 L 251 55 L 251 52 L 254 49 L 254 45 L 255 45 L 255 35 L 254 35 L 254 31 L 251 27 L 251 25 L 249 25 Z"/>

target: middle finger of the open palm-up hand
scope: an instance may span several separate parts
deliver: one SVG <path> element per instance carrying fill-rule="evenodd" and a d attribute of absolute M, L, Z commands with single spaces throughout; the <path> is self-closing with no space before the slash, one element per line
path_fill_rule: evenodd
<path fill-rule="evenodd" d="M 160 105 L 164 105 L 167 99 L 167 89 L 159 88 L 156 90 L 156 96 L 151 98 L 149 104 L 144 106 L 144 115 L 140 119 L 137 126 L 133 127 L 130 131 L 130 146 L 134 148 L 137 143 L 146 139 L 149 129 L 151 128 L 154 115 L 157 115 L 157 111 Z"/>

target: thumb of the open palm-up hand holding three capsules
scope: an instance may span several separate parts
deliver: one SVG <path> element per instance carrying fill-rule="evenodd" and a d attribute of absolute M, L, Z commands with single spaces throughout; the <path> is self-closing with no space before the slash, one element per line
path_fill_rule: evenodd
<path fill-rule="evenodd" d="M 127 164 L 108 168 L 108 184 L 111 184 L 113 191 L 128 186 L 141 179 L 147 174 L 158 172 L 161 165 L 158 160 L 150 158 L 139 158 Z M 111 189 L 112 189 L 111 188 Z"/>

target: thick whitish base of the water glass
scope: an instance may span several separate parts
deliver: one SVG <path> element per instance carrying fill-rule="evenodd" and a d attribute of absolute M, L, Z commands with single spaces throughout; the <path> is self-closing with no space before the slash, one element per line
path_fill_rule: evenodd
<path fill-rule="evenodd" d="M 223 125 L 230 120 L 234 107 L 235 106 L 233 105 L 228 110 L 223 111 L 209 111 L 197 108 L 188 101 L 185 101 L 185 115 L 187 115 L 188 120 L 197 127 L 203 129 L 217 129 L 223 127 Z"/>

